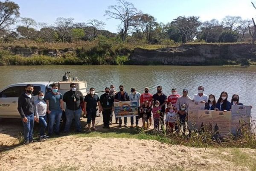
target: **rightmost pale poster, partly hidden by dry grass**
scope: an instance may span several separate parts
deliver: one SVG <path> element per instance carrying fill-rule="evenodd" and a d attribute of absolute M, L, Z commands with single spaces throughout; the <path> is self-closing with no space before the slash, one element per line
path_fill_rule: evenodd
<path fill-rule="evenodd" d="M 242 127 L 250 128 L 250 106 L 232 105 L 231 110 L 231 133 L 236 135 Z"/>

